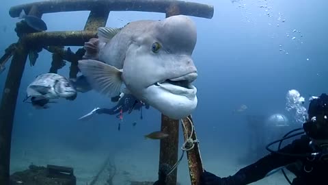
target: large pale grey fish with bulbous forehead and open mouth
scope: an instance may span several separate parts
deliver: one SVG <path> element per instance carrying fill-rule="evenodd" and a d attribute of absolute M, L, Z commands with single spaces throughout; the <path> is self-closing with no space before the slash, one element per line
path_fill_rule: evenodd
<path fill-rule="evenodd" d="M 197 89 L 191 85 L 197 78 L 191 58 L 196 40 L 195 23 L 183 15 L 134 21 L 120 29 L 100 27 L 98 39 L 85 43 L 79 69 L 103 95 L 131 93 L 182 119 L 197 106 Z"/>

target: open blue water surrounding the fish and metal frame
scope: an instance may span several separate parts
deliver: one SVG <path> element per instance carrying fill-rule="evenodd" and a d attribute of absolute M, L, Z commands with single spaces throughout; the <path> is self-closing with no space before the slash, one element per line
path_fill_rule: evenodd
<path fill-rule="evenodd" d="M 11 18 L 8 10 L 29 2 L 33 1 L 5 1 L 0 6 L 0 27 L 5 27 L 0 29 L 1 54 L 18 39 L 14 27 L 19 20 Z M 248 149 L 246 114 L 281 113 L 292 120 L 292 114 L 285 109 L 288 90 L 299 90 L 305 99 L 328 93 L 328 1 L 197 2 L 214 5 L 215 13 L 212 19 L 191 17 L 197 25 L 193 59 L 198 71 L 198 105 L 193 119 L 204 167 L 223 177 L 246 165 L 238 163 Z M 81 30 L 88 15 L 89 12 L 63 12 L 44 14 L 42 19 L 48 31 Z M 122 27 L 131 21 L 162 18 L 164 14 L 150 12 L 111 12 L 107 26 Z M 79 47 L 71 49 L 76 51 Z M 1 89 L 9 65 L 10 62 L 1 73 Z M 85 184 L 92 180 L 107 155 L 113 155 L 120 171 L 131 173 L 126 178 L 156 180 L 159 141 L 144 140 L 143 135 L 160 129 L 161 114 L 154 108 L 144 110 L 142 121 L 139 112 L 125 115 L 120 132 L 115 116 L 77 121 L 95 107 L 114 106 L 110 99 L 96 92 L 79 94 L 74 101 L 61 100 L 48 110 L 35 110 L 23 103 L 26 87 L 36 75 L 48 72 L 50 66 L 51 54 L 47 51 L 40 53 L 36 66 L 29 66 L 29 61 L 25 66 L 14 119 L 11 173 L 26 169 L 31 163 L 63 164 L 74 167 L 78 184 Z M 59 74 L 68 77 L 68 66 L 60 69 Z M 247 105 L 247 110 L 232 114 L 242 104 Z M 136 127 L 132 126 L 134 121 Z M 182 145 L 181 136 L 180 141 Z M 178 181 L 189 184 L 186 157 L 178 168 Z M 124 180 L 125 176 L 121 176 L 118 182 Z M 254 184 L 280 181 L 287 184 L 279 175 Z"/>

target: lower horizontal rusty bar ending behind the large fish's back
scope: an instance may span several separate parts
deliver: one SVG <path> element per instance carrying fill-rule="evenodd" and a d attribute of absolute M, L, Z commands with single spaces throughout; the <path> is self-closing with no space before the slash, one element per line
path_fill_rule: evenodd
<path fill-rule="evenodd" d="M 28 45 L 39 46 L 83 46 L 96 37 L 96 31 L 38 32 L 27 34 L 23 39 Z"/>

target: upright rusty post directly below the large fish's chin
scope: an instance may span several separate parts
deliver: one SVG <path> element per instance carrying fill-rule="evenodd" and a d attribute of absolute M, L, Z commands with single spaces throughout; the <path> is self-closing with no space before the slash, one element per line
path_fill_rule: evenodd
<path fill-rule="evenodd" d="M 176 164 L 178 161 L 178 144 L 179 144 L 179 121 L 169 119 L 169 117 L 161 114 L 161 131 L 169 134 L 165 139 L 161 140 L 159 153 L 159 170 L 166 171 Z M 176 185 L 176 175 L 178 171 L 175 169 L 167 176 L 166 185 Z"/>

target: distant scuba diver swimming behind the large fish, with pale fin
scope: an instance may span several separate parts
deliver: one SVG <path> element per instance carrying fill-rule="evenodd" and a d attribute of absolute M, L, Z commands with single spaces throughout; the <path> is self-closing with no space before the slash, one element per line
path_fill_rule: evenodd
<path fill-rule="evenodd" d="M 150 106 L 146 103 L 143 103 L 139 99 L 133 97 L 133 95 L 124 95 L 123 97 L 117 96 L 111 98 L 111 101 L 118 101 L 118 104 L 113 108 L 94 108 L 88 114 L 85 114 L 79 120 L 90 119 L 94 114 L 117 114 L 116 117 L 120 118 L 123 112 L 128 112 L 131 114 L 133 110 L 140 110 L 140 119 L 143 119 L 142 116 L 142 107 L 145 106 L 146 109 L 149 109 Z"/>

